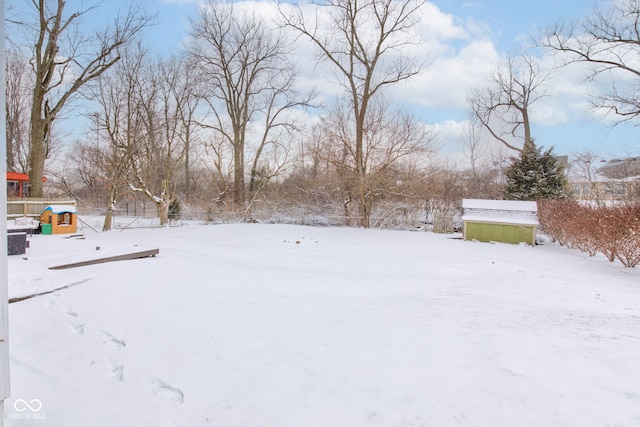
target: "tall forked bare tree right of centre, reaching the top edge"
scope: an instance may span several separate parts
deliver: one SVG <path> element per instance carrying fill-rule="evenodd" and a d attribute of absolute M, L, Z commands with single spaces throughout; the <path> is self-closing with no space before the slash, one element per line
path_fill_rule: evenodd
<path fill-rule="evenodd" d="M 344 130 L 342 144 L 352 153 L 355 174 L 351 178 L 358 200 L 360 225 L 369 227 L 372 188 L 367 167 L 366 122 L 369 107 L 385 88 L 419 72 L 419 64 L 403 49 L 413 44 L 409 31 L 414 26 L 423 0 L 329 0 L 318 9 L 326 11 L 328 28 L 319 29 L 298 7 L 289 13 L 281 7 L 282 24 L 308 38 L 319 50 L 321 60 L 330 63 L 349 100 L 352 127 Z M 346 117 L 336 117 L 339 120 Z M 340 123 L 337 123 L 340 124 Z"/>

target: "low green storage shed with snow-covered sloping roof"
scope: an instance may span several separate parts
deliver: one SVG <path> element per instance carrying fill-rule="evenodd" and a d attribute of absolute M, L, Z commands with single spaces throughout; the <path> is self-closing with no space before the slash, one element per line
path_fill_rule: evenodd
<path fill-rule="evenodd" d="M 536 202 L 464 199 L 462 209 L 465 240 L 536 244 Z"/>

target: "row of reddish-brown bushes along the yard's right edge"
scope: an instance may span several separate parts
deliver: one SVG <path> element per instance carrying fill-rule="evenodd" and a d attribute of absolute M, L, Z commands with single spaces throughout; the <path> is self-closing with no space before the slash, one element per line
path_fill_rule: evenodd
<path fill-rule="evenodd" d="M 640 204 L 581 204 L 570 200 L 538 202 L 542 231 L 561 245 L 593 256 L 600 252 L 625 267 L 640 264 Z"/>

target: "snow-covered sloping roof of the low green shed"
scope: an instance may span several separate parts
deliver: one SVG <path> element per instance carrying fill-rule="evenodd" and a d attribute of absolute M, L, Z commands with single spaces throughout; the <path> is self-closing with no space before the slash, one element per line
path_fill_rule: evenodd
<path fill-rule="evenodd" d="M 464 199 L 462 221 L 538 225 L 538 204 L 519 200 Z"/>

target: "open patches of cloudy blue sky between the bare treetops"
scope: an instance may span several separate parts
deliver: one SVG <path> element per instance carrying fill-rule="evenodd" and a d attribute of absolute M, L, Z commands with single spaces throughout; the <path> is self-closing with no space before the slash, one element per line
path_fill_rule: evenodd
<path fill-rule="evenodd" d="M 75 2 L 70 0 L 67 7 L 72 8 Z M 181 49 L 190 20 L 197 17 L 202 4 L 200 0 L 139 0 L 139 3 L 148 13 L 157 14 L 157 24 L 145 31 L 145 40 L 163 54 Z M 118 8 L 126 10 L 130 4 L 125 0 L 105 1 L 94 19 L 115 14 Z M 271 1 L 245 4 L 256 7 L 265 18 L 277 15 Z M 464 161 L 461 152 L 462 132 L 469 114 L 467 93 L 486 86 L 492 67 L 506 55 L 517 54 L 523 46 L 531 45 L 545 26 L 578 20 L 587 16 L 593 6 L 590 0 L 539 0 L 526 6 L 512 0 L 427 2 L 416 27 L 421 44 L 412 52 L 424 59 L 426 65 L 419 76 L 394 88 L 389 96 L 437 130 L 439 152 L 444 157 Z M 321 97 L 331 99 L 339 90 L 328 84 L 327 74 L 316 68 L 310 50 L 296 53 L 300 56 L 296 61 L 300 87 L 318 89 Z M 553 58 L 539 61 L 544 68 L 552 64 Z M 546 97 L 530 111 L 536 143 L 545 148 L 553 146 L 559 155 L 572 156 L 585 150 L 605 159 L 640 154 L 638 132 L 632 124 L 614 127 L 611 119 L 599 119 L 591 111 L 588 94 L 594 88 L 585 77 L 585 70 L 563 68 L 548 81 Z"/>

